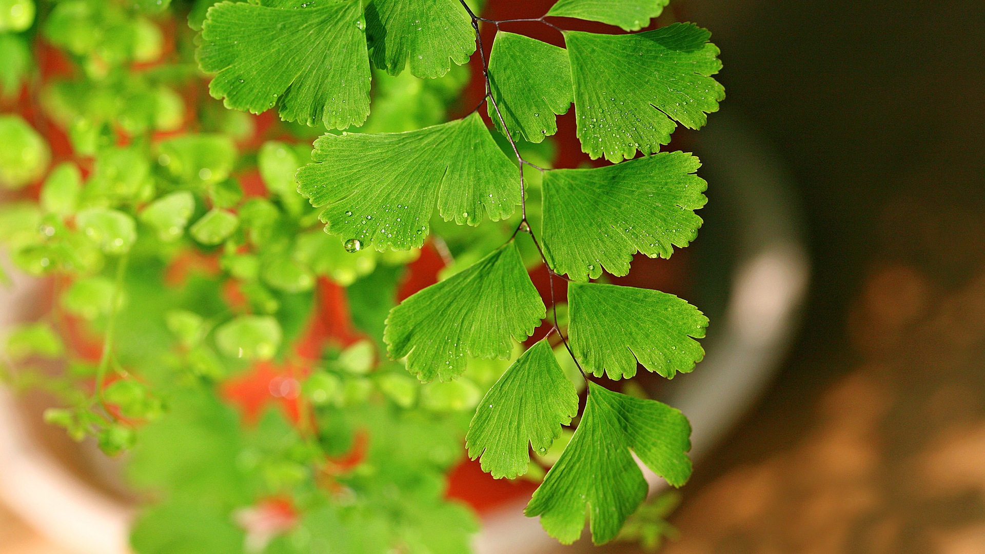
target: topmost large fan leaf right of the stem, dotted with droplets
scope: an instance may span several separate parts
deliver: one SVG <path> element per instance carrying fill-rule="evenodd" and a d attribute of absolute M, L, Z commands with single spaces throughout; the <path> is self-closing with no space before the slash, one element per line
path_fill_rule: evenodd
<path fill-rule="evenodd" d="M 711 34 L 691 24 L 634 35 L 565 32 L 581 148 L 592 159 L 631 159 L 671 140 L 677 125 L 704 125 L 725 89 Z"/>

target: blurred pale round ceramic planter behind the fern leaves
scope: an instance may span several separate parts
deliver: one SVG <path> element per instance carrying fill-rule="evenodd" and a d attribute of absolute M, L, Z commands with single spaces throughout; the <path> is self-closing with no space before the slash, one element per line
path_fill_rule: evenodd
<path fill-rule="evenodd" d="M 711 200 L 700 212 L 705 225 L 692 247 L 688 300 L 711 318 L 707 355 L 692 374 L 656 394 L 688 415 L 691 454 L 699 458 L 768 383 L 796 330 L 810 269 L 789 183 L 755 130 L 725 109 L 695 140 Z M 43 299 L 37 282 L 18 279 L 0 291 L 0 327 L 30 315 Z M 39 412 L 0 390 L 0 500 L 70 552 L 127 553 L 133 511 L 114 480 L 115 465 L 85 444 L 59 458 L 44 440 Z M 89 463 L 72 468 L 70 457 Z M 645 467 L 643 473 L 651 493 L 663 486 Z M 563 550 L 537 519 L 523 516 L 526 501 L 517 498 L 485 516 L 478 554 Z"/>

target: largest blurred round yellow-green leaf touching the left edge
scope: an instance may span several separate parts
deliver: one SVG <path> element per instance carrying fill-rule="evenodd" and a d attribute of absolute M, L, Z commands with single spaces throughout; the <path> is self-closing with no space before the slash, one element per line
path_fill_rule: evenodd
<path fill-rule="evenodd" d="M 0 188 L 31 183 L 51 160 L 47 143 L 20 115 L 0 115 L 0 144 Z"/>

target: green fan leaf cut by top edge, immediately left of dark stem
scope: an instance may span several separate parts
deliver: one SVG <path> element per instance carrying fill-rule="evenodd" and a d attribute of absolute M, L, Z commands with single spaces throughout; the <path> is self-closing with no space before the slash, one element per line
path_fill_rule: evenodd
<path fill-rule="evenodd" d="M 441 77 L 451 62 L 476 51 L 472 21 L 458 0 L 369 0 L 366 38 L 376 67 L 397 75 L 411 62 L 415 77 Z"/>

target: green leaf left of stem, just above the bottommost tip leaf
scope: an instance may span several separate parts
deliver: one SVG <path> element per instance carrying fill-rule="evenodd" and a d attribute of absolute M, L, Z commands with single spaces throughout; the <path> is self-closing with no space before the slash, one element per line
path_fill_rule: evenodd
<path fill-rule="evenodd" d="M 527 472 L 530 448 L 548 451 L 560 426 L 576 415 L 578 393 L 544 339 L 524 352 L 483 397 L 465 447 L 472 459 L 482 455 L 483 471 L 496 479 L 513 479 Z"/>

